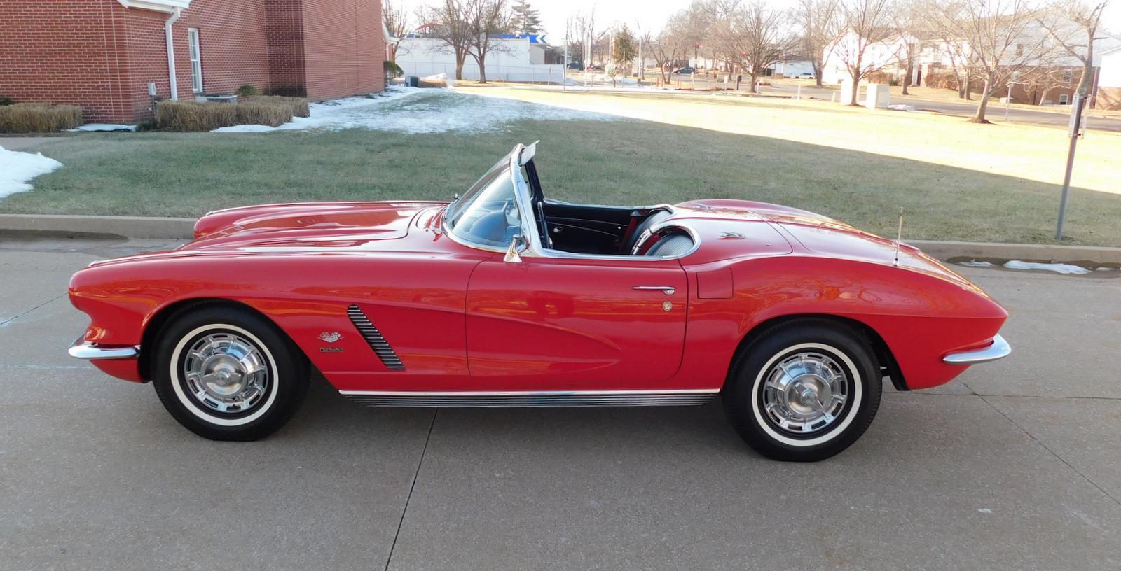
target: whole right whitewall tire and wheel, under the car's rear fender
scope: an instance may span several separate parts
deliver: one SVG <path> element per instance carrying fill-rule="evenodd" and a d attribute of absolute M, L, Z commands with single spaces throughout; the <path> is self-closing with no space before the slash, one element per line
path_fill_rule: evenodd
<path fill-rule="evenodd" d="M 822 460 L 849 448 L 871 424 L 880 377 L 863 334 L 826 319 L 798 319 L 741 349 L 724 387 L 724 410 L 763 456 Z"/>

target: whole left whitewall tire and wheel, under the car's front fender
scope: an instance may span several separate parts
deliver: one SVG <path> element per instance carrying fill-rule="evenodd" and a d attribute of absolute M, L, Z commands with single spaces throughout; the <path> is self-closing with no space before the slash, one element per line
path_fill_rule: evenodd
<path fill-rule="evenodd" d="M 152 385 L 172 416 L 212 440 L 257 440 L 307 393 L 307 365 L 265 318 L 228 306 L 186 308 L 159 333 Z"/>

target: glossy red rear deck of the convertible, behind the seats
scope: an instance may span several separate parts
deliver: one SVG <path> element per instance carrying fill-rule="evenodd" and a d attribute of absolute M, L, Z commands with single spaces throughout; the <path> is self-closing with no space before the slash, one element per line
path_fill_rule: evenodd
<path fill-rule="evenodd" d="M 688 217 L 766 221 L 785 231 L 795 255 L 856 260 L 926 273 L 984 294 L 971 281 L 907 243 L 864 232 L 808 210 L 750 200 L 694 200 L 676 205 Z M 898 260 L 898 262 L 897 262 Z"/>

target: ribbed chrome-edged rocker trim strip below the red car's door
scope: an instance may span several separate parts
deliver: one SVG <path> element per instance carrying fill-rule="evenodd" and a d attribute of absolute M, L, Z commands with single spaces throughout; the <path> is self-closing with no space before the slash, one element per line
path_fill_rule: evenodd
<path fill-rule="evenodd" d="M 716 396 L 712 390 L 667 391 L 339 391 L 368 406 L 686 406 Z"/>

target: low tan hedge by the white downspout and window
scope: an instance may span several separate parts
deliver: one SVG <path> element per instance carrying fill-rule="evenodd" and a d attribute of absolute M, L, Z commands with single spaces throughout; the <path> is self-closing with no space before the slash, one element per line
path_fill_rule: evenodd
<path fill-rule="evenodd" d="M 161 101 L 156 105 L 156 127 L 167 131 L 213 131 L 241 124 L 277 127 L 293 116 L 309 114 L 303 97 L 258 95 L 240 103 Z"/>

